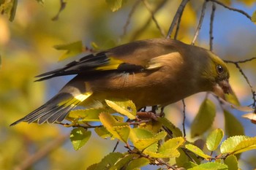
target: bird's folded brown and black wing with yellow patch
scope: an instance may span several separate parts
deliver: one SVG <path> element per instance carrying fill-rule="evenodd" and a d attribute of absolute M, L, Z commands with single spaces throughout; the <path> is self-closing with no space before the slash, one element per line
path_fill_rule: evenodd
<path fill-rule="evenodd" d="M 96 75 L 105 71 L 142 72 L 157 69 L 161 65 L 154 58 L 176 52 L 176 44 L 170 39 L 148 39 L 114 47 L 97 54 L 84 54 L 78 61 L 72 61 L 61 69 L 39 74 L 39 80 L 47 80 L 71 74 Z M 83 54 L 81 54 L 83 55 Z"/>

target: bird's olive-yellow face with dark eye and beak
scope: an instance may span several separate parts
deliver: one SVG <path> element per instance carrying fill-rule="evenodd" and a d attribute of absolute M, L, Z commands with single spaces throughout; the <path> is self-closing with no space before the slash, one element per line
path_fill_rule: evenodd
<path fill-rule="evenodd" d="M 227 65 L 222 59 L 220 59 L 214 53 L 208 51 L 210 58 L 209 66 L 203 74 L 208 80 L 210 80 L 212 85 L 212 91 L 217 94 L 217 96 L 224 96 L 224 93 L 232 93 L 232 89 L 229 83 L 230 74 L 227 69 Z"/>

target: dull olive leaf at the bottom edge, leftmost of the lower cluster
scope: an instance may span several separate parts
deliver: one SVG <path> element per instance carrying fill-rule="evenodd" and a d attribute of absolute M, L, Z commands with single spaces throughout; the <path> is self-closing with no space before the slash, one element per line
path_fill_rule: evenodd
<path fill-rule="evenodd" d="M 97 166 L 94 166 L 94 169 L 102 169 L 102 170 L 107 170 L 110 169 L 115 163 L 120 159 L 123 158 L 124 155 L 121 154 L 120 152 L 110 152 L 108 155 L 106 155 L 102 161 L 97 163 Z"/>

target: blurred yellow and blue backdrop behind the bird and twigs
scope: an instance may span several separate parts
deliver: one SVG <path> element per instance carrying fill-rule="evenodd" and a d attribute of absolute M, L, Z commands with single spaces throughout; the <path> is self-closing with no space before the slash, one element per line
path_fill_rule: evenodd
<path fill-rule="evenodd" d="M 181 1 L 148 0 L 159 26 L 167 34 L 173 16 Z M 226 0 L 223 3 L 242 9 L 249 15 L 256 9 L 255 0 Z M 0 169 L 86 169 L 99 162 L 111 152 L 116 141 L 101 139 L 93 135 L 89 142 L 78 151 L 69 142 L 72 128 L 61 125 L 34 125 L 20 123 L 10 127 L 10 123 L 37 109 L 54 96 L 71 77 L 58 77 L 44 82 L 34 82 L 34 76 L 63 66 L 66 62 L 59 57 L 64 51 L 55 50 L 54 45 L 64 45 L 78 40 L 91 47 L 95 42 L 104 50 L 136 39 L 162 37 L 151 20 L 150 12 L 140 2 L 127 1 L 123 7 L 112 12 L 104 0 L 67 1 L 66 8 L 58 20 L 52 20 L 60 8 L 59 0 L 46 0 L 40 4 L 33 0 L 18 1 L 15 20 L 10 22 L 6 15 L 0 15 Z M 160 7 L 159 4 L 162 3 Z M 191 43 L 197 28 L 203 1 L 191 0 L 181 18 L 178 39 Z M 132 16 L 129 13 L 134 9 Z M 209 48 L 209 23 L 211 2 L 207 4 L 206 16 L 197 38 L 196 45 Z M 129 20 L 129 26 L 124 26 Z M 256 57 L 256 25 L 244 15 L 217 5 L 214 18 L 214 53 L 222 59 L 240 61 Z M 230 83 L 242 105 L 252 104 L 249 85 L 236 66 L 228 64 Z M 242 63 L 241 68 L 251 82 L 256 85 L 256 61 Z M 186 98 L 187 134 L 205 93 Z M 216 99 L 212 98 L 217 102 Z M 182 128 L 182 103 L 166 108 L 168 119 Z M 219 109 L 213 128 L 224 129 L 222 109 Z M 247 136 L 256 136 L 256 125 L 241 117 L 243 112 L 231 110 L 244 126 Z M 191 139 L 192 141 L 194 139 Z M 123 144 L 118 145 L 124 151 Z M 256 169 L 255 151 L 241 155 L 241 169 Z M 145 169 L 157 169 L 149 166 Z"/>

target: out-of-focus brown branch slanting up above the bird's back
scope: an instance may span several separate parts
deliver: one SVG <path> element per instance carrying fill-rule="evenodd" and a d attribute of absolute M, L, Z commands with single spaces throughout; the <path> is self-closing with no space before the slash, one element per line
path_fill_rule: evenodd
<path fill-rule="evenodd" d="M 161 9 L 161 8 L 165 5 L 166 2 L 167 2 L 167 0 L 161 1 L 161 2 L 157 5 L 157 7 L 152 10 L 152 13 L 155 15 L 155 14 L 158 12 L 158 10 Z M 146 21 L 146 23 L 145 23 L 142 27 L 140 27 L 140 28 L 138 29 L 138 31 L 135 31 L 135 34 L 133 34 L 133 35 L 131 36 L 131 37 L 132 37 L 132 38 L 130 39 L 131 42 L 134 41 L 141 33 L 143 33 L 143 31 L 146 30 L 146 28 L 148 28 L 148 25 L 151 23 L 151 19 L 152 19 L 151 17 L 148 18 L 148 20 Z"/>

